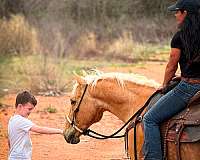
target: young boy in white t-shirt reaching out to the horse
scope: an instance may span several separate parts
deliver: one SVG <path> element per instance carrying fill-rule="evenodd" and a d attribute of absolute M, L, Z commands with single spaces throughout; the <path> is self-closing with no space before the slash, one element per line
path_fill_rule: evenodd
<path fill-rule="evenodd" d="M 42 134 L 63 134 L 63 130 L 35 125 L 28 116 L 35 108 L 37 100 L 28 91 L 16 97 L 16 111 L 8 123 L 9 160 L 31 160 L 32 143 L 29 131 Z"/>

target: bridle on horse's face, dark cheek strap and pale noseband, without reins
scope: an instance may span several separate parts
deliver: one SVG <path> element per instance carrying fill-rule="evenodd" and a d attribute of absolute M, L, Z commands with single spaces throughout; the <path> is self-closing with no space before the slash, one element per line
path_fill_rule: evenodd
<path fill-rule="evenodd" d="M 81 96 L 81 99 L 80 99 L 80 101 L 79 101 L 79 103 L 78 103 L 78 106 L 76 107 L 76 109 L 75 109 L 75 111 L 74 111 L 74 113 L 73 113 L 72 121 L 70 120 L 69 116 L 66 116 L 66 120 L 70 123 L 70 125 L 71 125 L 73 128 L 75 128 L 77 131 L 79 131 L 80 133 L 82 133 L 82 134 L 84 134 L 84 133 L 86 132 L 87 129 L 86 129 L 86 130 L 80 129 L 80 128 L 75 124 L 75 122 L 76 122 L 76 114 L 79 112 L 80 105 L 81 105 L 81 102 L 82 102 L 82 100 L 83 100 L 83 97 L 84 97 L 84 95 L 85 95 L 85 93 L 86 93 L 87 87 L 88 87 L 88 84 L 85 85 L 84 92 L 83 92 L 83 94 L 82 94 L 82 96 Z"/>

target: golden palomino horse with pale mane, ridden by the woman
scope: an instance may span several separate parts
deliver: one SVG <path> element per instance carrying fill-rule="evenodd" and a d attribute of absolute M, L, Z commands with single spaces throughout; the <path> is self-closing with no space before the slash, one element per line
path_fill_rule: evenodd
<path fill-rule="evenodd" d="M 111 112 L 123 122 L 127 122 L 158 86 L 159 84 L 153 80 L 131 74 L 105 73 L 98 76 L 77 76 L 71 97 L 70 113 L 66 116 L 65 140 L 71 144 L 79 143 L 84 130 L 100 121 L 104 111 Z M 131 159 L 134 159 L 133 130 L 129 132 L 128 138 L 128 152 Z M 141 126 L 138 125 L 137 157 L 139 159 L 142 159 L 142 144 L 143 132 Z M 186 145 L 185 149 L 181 150 L 182 160 L 198 160 L 199 147 L 192 147 L 192 144 L 184 145 Z M 168 144 L 168 147 L 170 147 L 168 160 L 175 160 L 174 146 Z M 193 155 L 193 158 L 188 155 L 192 153 L 192 150 L 198 153 L 198 155 Z"/>

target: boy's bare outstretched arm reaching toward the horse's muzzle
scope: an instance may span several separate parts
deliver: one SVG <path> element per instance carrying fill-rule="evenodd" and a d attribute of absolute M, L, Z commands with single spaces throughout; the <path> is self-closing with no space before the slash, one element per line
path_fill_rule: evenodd
<path fill-rule="evenodd" d="M 33 125 L 30 129 L 32 132 L 41 134 L 63 134 L 63 130 L 57 128 L 42 127 L 38 125 Z"/>

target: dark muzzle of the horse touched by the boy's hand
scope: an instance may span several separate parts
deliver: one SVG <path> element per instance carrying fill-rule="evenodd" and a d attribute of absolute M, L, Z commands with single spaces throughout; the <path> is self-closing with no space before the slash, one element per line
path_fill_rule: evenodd
<path fill-rule="evenodd" d="M 67 143 L 70 144 L 77 144 L 80 142 L 80 135 L 77 134 L 76 130 L 73 127 L 70 127 L 65 130 L 64 138 L 67 141 Z"/>

